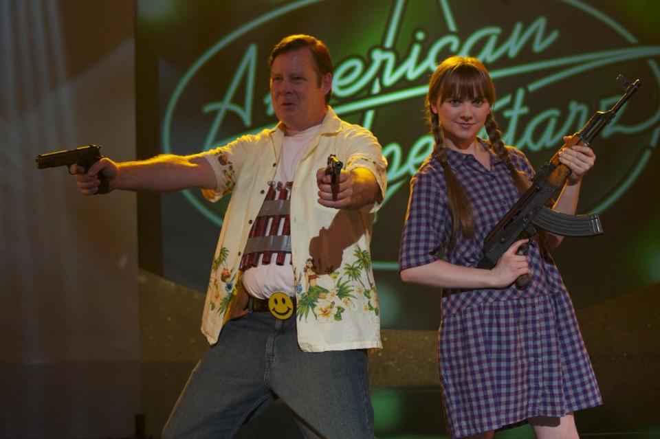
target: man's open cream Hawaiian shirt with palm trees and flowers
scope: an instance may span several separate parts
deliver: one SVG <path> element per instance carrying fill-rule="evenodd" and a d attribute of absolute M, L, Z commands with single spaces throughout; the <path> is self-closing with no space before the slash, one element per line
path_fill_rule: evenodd
<path fill-rule="evenodd" d="M 209 201 L 232 192 L 212 263 L 201 331 L 214 344 L 241 286 L 239 264 L 275 175 L 284 132 L 281 124 L 245 135 L 204 153 L 217 179 L 203 190 Z M 387 163 L 377 139 L 349 124 L 328 107 L 320 131 L 300 159 L 291 195 L 293 291 L 298 344 L 308 352 L 381 348 L 380 308 L 371 269 L 371 224 L 380 203 L 361 210 L 338 210 L 318 203 L 316 170 L 330 154 L 345 169 L 373 172 L 382 194 Z"/>

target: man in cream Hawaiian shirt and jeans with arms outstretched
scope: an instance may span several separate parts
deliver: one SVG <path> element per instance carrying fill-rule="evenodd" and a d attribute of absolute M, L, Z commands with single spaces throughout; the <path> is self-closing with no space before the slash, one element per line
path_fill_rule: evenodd
<path fill-rule="evenodd" d="M 212 346 L 165 438 L 230 438 L 276 397 L 309 438 L 373 438 L 365 350 L 381 342 L 369 243 L 386 161 L 369 131 L 327 106 L 325 44 L 288 36 L 269 65 L 275 128 L 197 155 L 72 169 L 84 194 L 99 173 L 110 190 L 233 192 L 202 317 Z M 334 184 L 331 154 L 345 165 Z"/>

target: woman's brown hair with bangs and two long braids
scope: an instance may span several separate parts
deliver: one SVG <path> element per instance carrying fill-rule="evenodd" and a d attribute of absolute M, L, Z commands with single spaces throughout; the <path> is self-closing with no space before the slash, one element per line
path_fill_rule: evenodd
<path fill-rule="evenodd" d="M 487 100 L 491 109 L 495 104 L 495 85 L 490 78 L 486 67 L 476 58 L 463 56 L 452 56 L 445 59 L 435 69 L 428 83 L 428 93 L 426 93 L 426 117 L 434 138 L 433 151 L 431 153 L 441 164 L 445 183 L 447 185 L 447 196 L 449 207 L 452 211 L 452 235 L 450 248 L 456 244 L 456 235 L 459 229 L 463 236 L 471 238 L 474 236 L 474 226 L 472 221 L 472 205 L 465 196 L 463 187 L 452 172 L 445 153 L 445 144 L 442 126 L 439 122 L 437 113 L 431 108 L 440 100 L 444 102 L 448 98 L 457 98 L 459 100 L 474 100 L 482 98 Z M 484 124 L 488 135 L 489 143 L 494 152 L 502 159 L 511 172 L 516 188 L 522 194 L 529 188 L 529 181 L 523 172 L 514 168 L 509 157 L 509 150 L 502 140 L 502 131 L 495 122 L 492 111 L 488 113 Z"/>

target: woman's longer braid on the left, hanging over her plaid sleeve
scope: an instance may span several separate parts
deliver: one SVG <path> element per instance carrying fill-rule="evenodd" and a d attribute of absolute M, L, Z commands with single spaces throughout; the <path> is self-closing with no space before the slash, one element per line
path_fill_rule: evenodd
<path fill-rule="evenodd" d="M 465 196 L 463 187 L 456 178 L 454 172 L 449 166 L 447 155 L 445 153 L 445 144 L 443 141 L 443 129 L 439 122 L 437 113 L 429 111 L 431 133 L 433 134 L 435 143 L 433 152 L 431 153 L 441 164 L 443 173 L 445 175 L 445 184 L 447 185 L 447 198 L 450 210 L 452 211 L 452 235 L 450 238 L 449 248 L 453 249 L 456 245 L 456 236 L 459 234 L 459 229 L 463 232 L 463 236 L 472 238 L 474 236 L 474 227 L 472 225 L 472 205 L 470 200 Z"/>

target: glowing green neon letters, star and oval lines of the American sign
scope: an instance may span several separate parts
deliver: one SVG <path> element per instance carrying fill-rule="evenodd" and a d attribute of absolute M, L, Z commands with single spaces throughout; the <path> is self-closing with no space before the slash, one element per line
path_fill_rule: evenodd
<path fill-rule="evenodd" d="M 604 16 L 594 8 L 582 4 L 580 0 L 564 0 L 564 2 L 580 8 L 591 14 L 595 19 L 602 21 L 608 27 L 611 27 L 615 32 L 626 38 L 628 43 L 637 43 L 637 40 L 630 36 L 620 25 L 613 22 L 608 17 Z M 276 16 L 281 16 L 303 8 L 307 5 L 316 3 L 316 0 L 305 0 L 287 5 L 286 8 L 279 8 L 274 12 L 265 14 L 250 23 L 247 23 L 237 30 L 225 36 L 221 41 L 209 49 L 203 56 L 195 62 L 195 64 L 186 72 L 184 78 L 181 80 L 177 89 L 173 93 L 170 103 L 164 118 L 164 131 L 163 143 L 164 152 L 168 152 L 170 148 L 170 122 L 173 115 L 174 106 L 183 91 L 185 85 L 190 81 L 192 75 L 198 71 L 204 63 L 214 54 L 223 49 L 226 45 L 234 41 L 239 35 L 253 30 L 259 25 L 263 25 L 267 21 L 274 19 Z M 408 53 L 400 57 L 399 52 L 393 49 L 395 38 L 397 38 L 397 30 L 402 25 L 401 14 L 405 10 L 405 1 L 397 0 L 393 12 L 393 20 L 389 23 L 386 30 L 386 41 L 384 47 L 375 46 L 369 50 L 368 56 L 362 58 L 360 56 L 350 56 L 345 58 L 342 63 L 337 67 L 334 87 L 335 95 L 338 98 L 351 98 L 362 93 L 358 100 L 353 102 L 344 102 L 335 107 L 339 115 L 343 113 L 357 113 L 364 111 L 369 115 L 369 124 L 373 121 L 373 116 L 380 106 L 393 104 L 403 100 L 412 98 L 419 98 L 426 94 L 426 85 L 414 85 L 407 89 L 399 87 L 396 91 L 388 91 L 388 87 L 397 85 L 401 80 L 408 80 L 413 82 L 428 72 L 433 71 L 437 63 L 445 56 L 451 54 L 466 54 L 476 56 L 486 63 L 492 63 L 495 60 L 507 56 L 514 59 L 522 53 L 525 47 L 530 47 L 531 51 L 535 54 L 543 52 L 555 43 L 560 34 L 558 30 L 547 30 L 548 21 L 545 16 L 539 16 L 532 21 L 529 25 L 525 26 L 522 22 L 517 22 L 509 32 L 507 38 L 503 41 L 504 32 L 500 27 L 482 27 L 476 32 L 467 36 L 465 41 L 461 42 L 461 38 L 455 34 L 458 27 L 453 21 L 452 12 L 450 10 L 449 2 L 447 0 L 439 0 L 443 14 L 445 17 L 448 30 L 454 34 L 446 34 L 440 36 L 436 41 L 427 45 L 428 52 L 423 53 L 426 41 L 426 30 L 417 30 L 413 34 L 412 42 L 408 47 Z M 498 100 L 498 111 L 503 110 L 502 114 L 508 120 L 507 133 L 505 139 L 507 143 L 514 144 L 518 148 L 528 147 L 530 150 L 540 150 L 542 148 L 555 148 L 561 142 L 562 135 L 569 134 L 576 129 L 582 127 L 586 122 L 590 111 L 589 106 L 584 103 L 571 100 L 567 106 L 567 114 L 564 123 L 558 128 L 558 123 L 562 117 L 562 112 L 557 108 L 545 109 L 541 113 L 536 114 L 527 122 L 525 115 L 529 113 L 529 106 L 525 105 L 526 93 L 533 93 L 534 91 L 551 85 L 560 80 L 569 78 L 575 74 L 580 74 L 584 71 L 599 69 L 605 65 L 612 65 L 621 63 L 622 61 L 629 60 L 648 60 L 648 66 L 654 72 L 655 78 L 660 83 L 660 71 L 652 58 L 660 54 L 660 47 L 658 46 L 639 46 L 639 47 L 622 47 L 620 49 L 609 49 L 601 52 L 587 52 L 584 54 L 577 54 L 571 56 L 564 56 L 560 58 L 552 58 L 547 60 L 534 61 L 532 63 L 522 63 L 510 66 L 504 69 L 491 71 L 492 78 L 506 78 L 509 76 L 517 76 L 521 74 L 529 74 L 532 72 L 540 72 L 550 70 L 552 73 L 545 76 L 538 75 L 534 82 L 531 82 L 526 87 L 523 86 L 516 90 L 514 95 L 506 95 Z M 366 61 L 365 61 L 366 59 Z M 369 63 L 369 66 L 366 66 Z M 560 71 L 558 71 L 560 67 Z M 217 140 L 217 133 L 221 129 L 221 125 L 225 120 L 228 113 L 234 113 L 241 118 L 244 126 L 246 127 L 245 133 L 255 133 L 261 131 L 263 127 L 252 127 L 252 94 L 254 93 L 254 80 L 256 70 L 256 45 L 252 44 L 248 47 L 245 55 L 243 56 L 239 67 L 236 69 L 236 74 L 230 83 L 230 87 L 226 91 L 223 100 L 219 102 L 210 102 L 203 106 L 205 113 L 215 111 L 214 119 L 210 125 L 208 135 L 206 137 L 205 149 L 210 146 L 217 146 L 225 144 L 230 139 L 234 139 L 236 135 L 232 135 L 230 139 Z M 553 71 L 554 70 L 554 71 Z M 236 98 L 236 93 L 241 87 L 245 85 L 245 96 L 242 102 Z M 364 93 L 366 87 L 371 85 L 371 93 Z M 384 89 L 382 92 L 381 89 Z M 606 102 L 611 102 L 606 98 L 600 102 L 601 106 L 606 106 Z M 263 100 L 263 108 L 265 113 L 269 116 L 274 115 L 272 104 L 270 102 L 270 93 L 267 93 Z M 509 108 L 506 106 L 511 104 Z M 626 107 L 624 107 L 625 109 Z M 631 135 L 640 133 L 647 129 L 657 126 L 660 121 L 660 105 L 657 110 L 648 119 L 629 126 L 620 124 L 621 115 L 624 114 L 624 109 L 621 109 L 619 115 L 613 120 L 602 132 L 602 137 L 610 137 L 615 133 L 622 133 Z M 520 126 L 528 123 L 522 137 L 516 141 L 516 131 Z M 268 126 L 271 126 L 270 124 Z M 243 134 L 245 134 L 243 133 Z M 540 133 L 540 134 L 539 134 Z M 654 131 L 655 142 L 660 136 L 660 131 Z M 534 137 L 538 135 L 537 137 Z M 390 166 L 388 168 L 388 191 L 385 196 L 384 202 L 391 198 L 391 196 L 401 188 L 406 181 L 408 175 L 416 172 L 421 161 L 428 156 L 432 150 L 433 140 L 429 135 L 424 135 L 417 139 L 417 142 L 410 148 L 408 155 L 404 153 L 404 148 L 396 142 L 392 142 L 384 148 L 384 155 L 388 157 Z M 406 156 L 406 157 L 404 157 Z M 643 166 L 642 166 L 643 167 Z M 630 176 L 630 181 L 634 181 L 635 176 Z M 610 196 L 608 202 L 620 196 L 623 191 L 619 191 Z M 206 205 L 200 205 L 188 192 L 188 198 L 201 212 L 208 211 Z M 606 205 L 604 205 L 606 206 Z M 214 214 L 210 214 L 214 217 Z M 221 223 L 219 219 L 213 219 Z"/>

